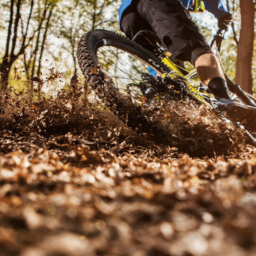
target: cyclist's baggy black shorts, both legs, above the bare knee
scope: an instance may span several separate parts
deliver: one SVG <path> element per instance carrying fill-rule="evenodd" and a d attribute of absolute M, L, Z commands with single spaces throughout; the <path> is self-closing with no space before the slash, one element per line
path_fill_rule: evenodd
<path fill-rule="evenodd" d="M 193 65 L 199 56 L 212 53 L 189 11 L 178 0 L 133 0 L 122 14 L 120 27 L 129 38 L 140 30 L 154 31 L 173 58 Z"/>

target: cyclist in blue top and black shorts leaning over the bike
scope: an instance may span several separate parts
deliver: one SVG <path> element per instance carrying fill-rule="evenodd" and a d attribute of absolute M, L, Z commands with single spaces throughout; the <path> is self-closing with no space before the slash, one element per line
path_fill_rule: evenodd
<path fill-rule="evenodd" d="M 231 99 L 217 57 L 189 14 L 191 7 L 202 4 L 218 19 L 218 27 L 227 31 L 232 14 L 221 0 L 123 0 L 119 8 L 120 28 L 131 39 L 141 30 L 154 32 L 158 43 L 169 49 L 173 59 L 189 61 L 195 66 L 199 79 L 208 86 L 221 108 L 232 110 L 236 121 L 249 123 L 256 108 Z"/>

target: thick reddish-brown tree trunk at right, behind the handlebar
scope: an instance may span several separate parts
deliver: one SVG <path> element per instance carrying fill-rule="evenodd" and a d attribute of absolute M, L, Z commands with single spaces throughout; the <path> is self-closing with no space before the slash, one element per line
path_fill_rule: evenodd
<path fill-rule="evenodd" d="M 242 90 L 252 93 L 252 56 L 254 41 L 254 13 L 253 0 L 240 0 L 241 30 L 237 47 L 236 84 Z"/>

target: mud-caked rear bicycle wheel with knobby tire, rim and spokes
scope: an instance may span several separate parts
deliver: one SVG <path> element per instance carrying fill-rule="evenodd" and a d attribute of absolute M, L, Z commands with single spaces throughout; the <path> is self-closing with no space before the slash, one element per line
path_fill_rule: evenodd
<path fill-rule="evenodd" d="M 170 72 L 157 56 L 128 38 L 96 29 L 81 38 L 77 57 L 85 78 L 114 113 L 143 132 L 151 127 L 140 110 L 147 90 L 143 74 L 148 67 L 158 75 Z"/>

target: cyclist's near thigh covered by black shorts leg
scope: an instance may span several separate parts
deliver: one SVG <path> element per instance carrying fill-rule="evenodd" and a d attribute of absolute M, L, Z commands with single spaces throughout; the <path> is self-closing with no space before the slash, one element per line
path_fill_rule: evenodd
<path fill-rule="evenodd" d="M 152 27 L 160 44 L 169 49 L 174 59 L 184 51 L 210 47 L 188 10 L 178 0 L 139 0 L 138 12 Z M 137 24 L 139 25 L 139 24 Z M 189 61 L 190 59 L 180 59 Z"/>

